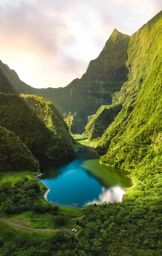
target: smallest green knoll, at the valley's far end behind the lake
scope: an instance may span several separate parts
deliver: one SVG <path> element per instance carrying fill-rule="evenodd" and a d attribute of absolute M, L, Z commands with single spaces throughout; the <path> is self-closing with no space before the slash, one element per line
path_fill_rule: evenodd
<path fill-rule="evenodd" d="M 80 116 L 78 116 L 76 112 L 74 115 L 69 113 L 64 121 L 69 128 L 70 134 L 82 134 L 84 132 L 83 120 L 80 118 Z"/>

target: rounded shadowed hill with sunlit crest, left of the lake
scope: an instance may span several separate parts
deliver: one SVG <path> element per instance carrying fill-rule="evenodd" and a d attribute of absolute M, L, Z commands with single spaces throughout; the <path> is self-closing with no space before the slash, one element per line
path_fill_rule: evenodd
<path fill-rule="evenodd" d="M 58 159 L 74 155 L 67 125 L 54 105 L 35 95 L 0 93 L 0 125 L 32 152 Z"/>

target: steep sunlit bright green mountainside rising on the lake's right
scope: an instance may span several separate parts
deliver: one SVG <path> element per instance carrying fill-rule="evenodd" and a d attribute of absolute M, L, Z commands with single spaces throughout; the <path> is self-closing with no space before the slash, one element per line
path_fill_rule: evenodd
<path fill-rule="evenodd" d="M 107 152 L 101 163 L 135 170 L 151 188 L 162 172 L 162 12 L 130 37 L 127 66 L 129 79 L 113 99 L 122 111 L 98 149 Z"/>

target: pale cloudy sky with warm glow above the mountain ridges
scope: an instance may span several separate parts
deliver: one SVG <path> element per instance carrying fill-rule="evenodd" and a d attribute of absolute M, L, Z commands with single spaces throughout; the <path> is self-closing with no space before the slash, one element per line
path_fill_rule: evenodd
<path fill-rule="evenodd" d="M 32 87 L 64 87 L 113 29 L 132 35 L 162 0 L 0 0 L 0 60 Z"/>

